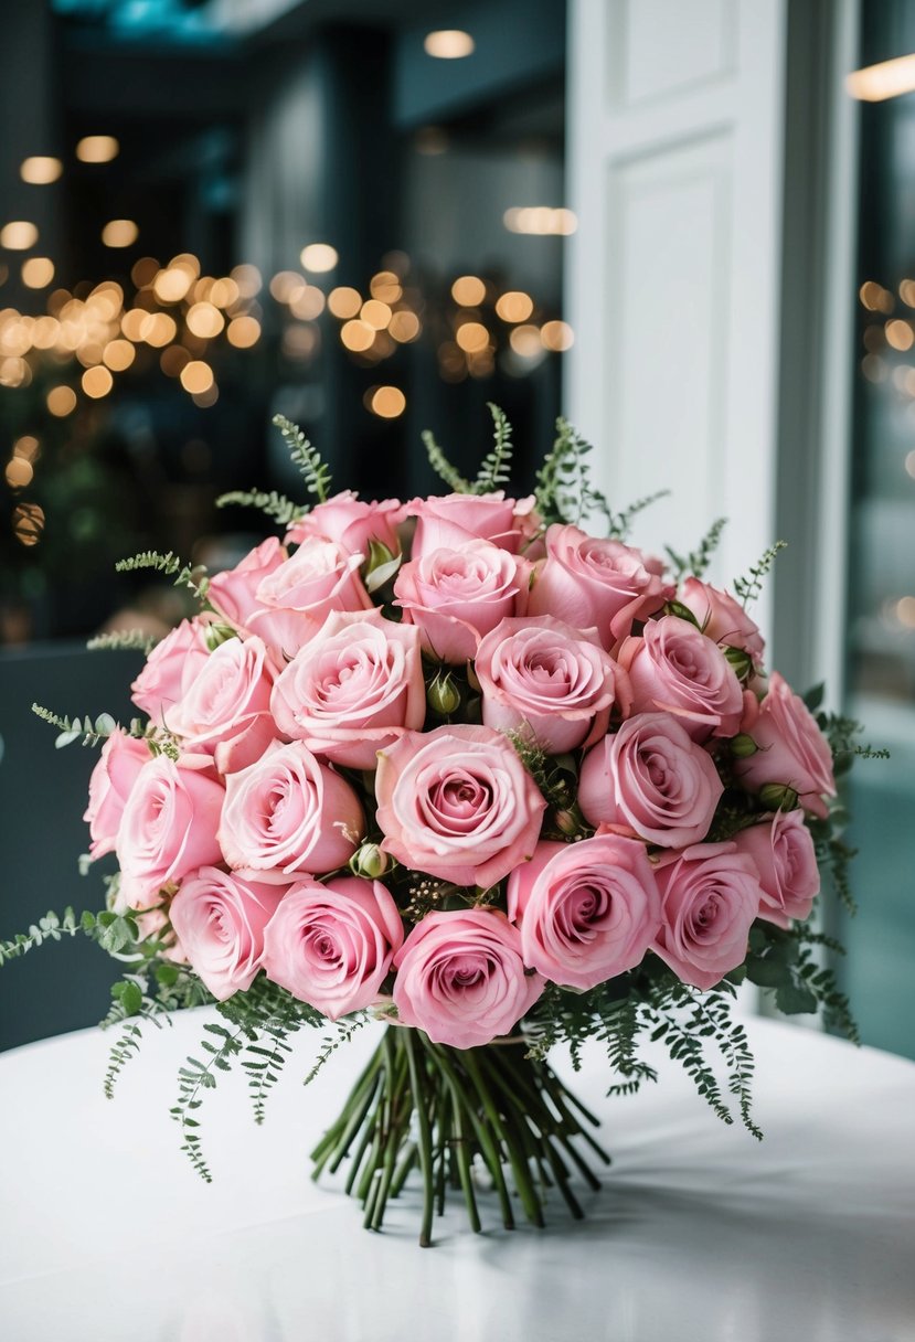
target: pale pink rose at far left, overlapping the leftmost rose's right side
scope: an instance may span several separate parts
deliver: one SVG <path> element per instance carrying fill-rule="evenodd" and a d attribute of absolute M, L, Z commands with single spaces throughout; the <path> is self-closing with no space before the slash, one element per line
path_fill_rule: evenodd
<path fill-rule="evenodd" d="M 216 831 L 225 792 L 211 768 L 207 756 L 177 764 L 157 756 L 137 774 L 115 843 L 126 907 L 156 905 L 164 886 L 221 860 Z"/>

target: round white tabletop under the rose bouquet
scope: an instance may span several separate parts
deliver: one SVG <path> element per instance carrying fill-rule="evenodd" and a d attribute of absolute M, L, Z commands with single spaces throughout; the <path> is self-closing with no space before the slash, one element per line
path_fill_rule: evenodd
<path fill-rule="evenodd" d="M 114 1102 L 109 1037 L 0 1057 L 4 1342 L 903 1342 L 915 1339 L 915 1064 L 750 1021 L 758 1145 L 724 1127 L 675 1064 L 604 1100 L 576 1082 L 614 1157 L 588 1220 L 474 1236 L 460 1206 L 416 1244 L 417 1197 L 382 1235 L 311 1184 L 306 1151 L 361 1039 L 317 1082 L 314 1035 L 250 1118 L 244 1082 L 203 1110 L 213 1185 L 177 1150 L 174 1074 L 205 1013 L 148 1029 Z M 366 1032 L 368 1033 L 368 1032 Z"/>

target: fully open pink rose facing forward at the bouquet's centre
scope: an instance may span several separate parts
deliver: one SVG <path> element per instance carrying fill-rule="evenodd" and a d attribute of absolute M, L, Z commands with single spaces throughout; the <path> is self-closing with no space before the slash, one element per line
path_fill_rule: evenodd
<path fill-rule="evenodd" d="M 405 867 L 488 890 L 534 852 L 546 803 L 490 727 L 408 731 L 378 756 L 381 844 Z"/>

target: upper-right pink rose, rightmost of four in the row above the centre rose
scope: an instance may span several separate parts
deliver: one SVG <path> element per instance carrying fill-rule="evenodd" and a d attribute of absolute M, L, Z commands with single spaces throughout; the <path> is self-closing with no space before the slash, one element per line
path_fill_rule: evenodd
<path fill-rule="evenodd" d="M 624 639 L 617 660 L 637 713 L 674 713 L 694 741 L 739 730 L 741 682 L 718 644 L 688 620 L 649 620 L 640 637 Z"/>

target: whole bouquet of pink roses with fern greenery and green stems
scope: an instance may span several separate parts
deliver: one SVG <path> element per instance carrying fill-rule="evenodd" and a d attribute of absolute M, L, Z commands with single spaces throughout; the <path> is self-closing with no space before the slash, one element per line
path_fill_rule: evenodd
<path fill-rule="evenodd" d="M 572 1143 L 602 1153 L 554 1044 L 598 1036 L 631 1090 L 653 1076 L 639 1039 L 663 1039 L 729 1117 L 708 1037 L 753 1126 L 738 984 L 848 1024 L 805 919 L 820 867 L 847 854 L 835 761 L 853 725 L 766 679 L 747 605 L 775 550 L 726 590 L 704 577 L 720 525 L 686 560 L 636 549 L 636 510 L 610 511 L 563 421 L 537 493 L 513 497 L 492 413 L 478 478 L 429 437 L 451 491 L 402 503 L 331 494 L 279 420 L 315 495 L 311 510 L 248 499 L 267 499 L 282 539 L 213 576 L 126 562 L 200 605 L 148 650 L 133 682 L 146 717 L 39 710 L 64 741 L 103 742 L 89 860 L 118 868 L 101 913 L 42 926 L 129 961 L 111 1019 L 134 1043 L 162 1008 L 215 1002 L 225 1021 L 173 1110 L 195 1166 L 209 1177 L 197 1095 L 240 1037 L 260 1114 L 290 1033 L 337 1023 L 321 1062 L 385 1023 L 313 1155 L 317 1172 L 352 1162 L 376 1229 L 416 1168 L 421 1243 L 449 1182 L 479 1228 L 474 1159 L 506 1225 L 513 1190 L 542 1223 L 535 1166 L 580 1215 L 569 1154 L 596 1178 Z M 0 945 L 0 962 L 31 943 Z"/>

